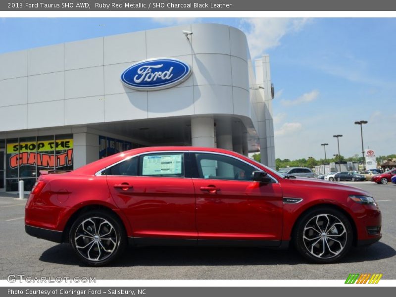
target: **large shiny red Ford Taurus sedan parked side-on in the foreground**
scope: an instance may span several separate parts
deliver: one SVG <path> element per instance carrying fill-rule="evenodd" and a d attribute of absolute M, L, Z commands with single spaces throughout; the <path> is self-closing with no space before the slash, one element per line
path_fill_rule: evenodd
<path fill-rule="evenodd" d="M 128 244 L 287 248 L 331 263 L 381 238 L 374 198 L 347 185 L 282 176 L 217 148 L 138 148 L 43 174 L 25 208 L 31 236 L 69 243 L 99 266 Z"/>

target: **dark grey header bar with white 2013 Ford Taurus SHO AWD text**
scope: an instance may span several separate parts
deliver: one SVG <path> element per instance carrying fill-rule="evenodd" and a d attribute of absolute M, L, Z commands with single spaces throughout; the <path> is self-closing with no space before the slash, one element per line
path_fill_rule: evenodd
<path fill-rule="evenodd" d="M 1 0 L 1 11 L 396 11 L 390 0 Z"/>

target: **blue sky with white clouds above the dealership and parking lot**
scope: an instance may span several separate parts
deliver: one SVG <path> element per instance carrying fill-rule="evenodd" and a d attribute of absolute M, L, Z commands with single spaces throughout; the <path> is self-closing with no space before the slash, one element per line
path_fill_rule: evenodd
<path fill-rule="evenodd" d="M 275 156 L 396 153 L 396 18 L 1 18 L 0 53 L 184 23 L 247 34 L 252 58 L 270 55 Z"/>

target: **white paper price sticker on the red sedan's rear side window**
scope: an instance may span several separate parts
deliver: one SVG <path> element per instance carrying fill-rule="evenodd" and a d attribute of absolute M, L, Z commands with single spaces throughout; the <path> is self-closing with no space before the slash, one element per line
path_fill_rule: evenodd
<path fill-rule="evenodd" d="M 149 155 L 143 157 L 142 175 L 181 174 L 182 155 Z"/>

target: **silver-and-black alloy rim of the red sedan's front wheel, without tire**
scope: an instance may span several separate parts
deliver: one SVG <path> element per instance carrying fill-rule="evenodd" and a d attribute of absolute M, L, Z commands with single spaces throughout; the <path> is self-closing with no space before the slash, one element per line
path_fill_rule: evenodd
<path fill-rule="evenodd" d="M 306 223 L 302 239 L 310 254 L 330 259 L 343 251 L 347 243 L 347 230 L 339 218 L 323 213 Z"/>

